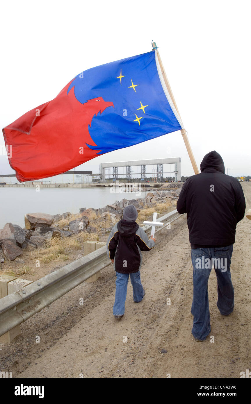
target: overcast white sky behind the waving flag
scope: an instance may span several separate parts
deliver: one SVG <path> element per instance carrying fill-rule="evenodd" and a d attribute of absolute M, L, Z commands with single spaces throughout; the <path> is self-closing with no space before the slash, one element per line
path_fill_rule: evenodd
<path fill-rule="evenodd" d="M 250 11 L 246 0 L 1 2 L 1 128 L 76 74 L 148 52 L 154 40 L 198 166 L 216 150 L 230 175 L 251 175 Z M 180 131 L 79 168 L 97 173 L 101 162 L 163 157 L 181 157 L 181 175 L 194 174 Z"/>

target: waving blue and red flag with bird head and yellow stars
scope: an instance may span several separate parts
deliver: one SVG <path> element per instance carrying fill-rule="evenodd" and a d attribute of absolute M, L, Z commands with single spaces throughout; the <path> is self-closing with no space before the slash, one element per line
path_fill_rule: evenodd
<path fill-rule="evenodd" d="M 152 50 L 78 74 L 3 134 L 6 147 L 12 146 L 11 167 L 23 182 L 182 128 Z"/>

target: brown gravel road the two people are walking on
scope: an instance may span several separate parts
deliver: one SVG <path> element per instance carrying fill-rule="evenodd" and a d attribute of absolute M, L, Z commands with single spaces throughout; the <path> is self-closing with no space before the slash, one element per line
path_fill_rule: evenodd
<path fill-rule="evenodd" d="M 242 185 L 249 209 L 251 184 Z M 230 316 L 217 309 L 214 270 L 209 278 L 213 343 L 210 336 L 198 343 L 191 334 L 192 264 L 184 215 L 143 253 L 146 296 L 134 303 L 129 283 L 122 320 L 112 315 L 115 274 L 109 266 L 96 282 L 84 282 L 22 324 L 15 345 L 0 347 L 1 370 L 12 371 L 13 377 L 238 378 L 251 369 L 250 246 L 251 221 L 245 218 L 237 225 L 232 256 L 235 307 Z"/>

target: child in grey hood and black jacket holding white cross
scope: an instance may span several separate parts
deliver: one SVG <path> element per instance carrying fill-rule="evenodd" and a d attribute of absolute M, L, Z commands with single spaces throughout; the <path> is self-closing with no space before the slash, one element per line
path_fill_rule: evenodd
<path fill-rule="evenodd" d="M 139 303 L 145 296 L 139 271 L 142 264 L 141 251 L 149 251 L 155 245 L 155 238 L 149 240 L 145 231 L 136 223 L 137 216 L 134 205 L 126 206 L 123 219 L 114 225 L 106 243 L 108 257 L 114 263 L 116 271 L 113 315 L 118 319 L 124 316 L 129 275 L 134 302 Z"/>

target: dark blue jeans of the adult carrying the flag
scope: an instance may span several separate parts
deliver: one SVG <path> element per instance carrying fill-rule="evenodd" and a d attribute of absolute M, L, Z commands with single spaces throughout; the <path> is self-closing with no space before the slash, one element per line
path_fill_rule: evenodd
<path fill-rule="evenodd" d="M 217 307 L 221 314 L 227 316 L 234 309 L 234 288 L 230 275 L 233 244 L 227 247 L 192 248 L 191 257 L 194 267 L 194 294 L 191 313 L 194 316 L 192 335 L 196 339 L 206 339 L 210 327 L 210 313 L 207 281 L 212 269 L 217 276 Z M 215 261 L 217 260 L 217 261 Z"/>

